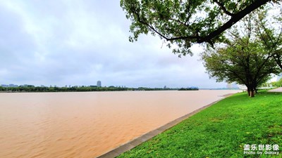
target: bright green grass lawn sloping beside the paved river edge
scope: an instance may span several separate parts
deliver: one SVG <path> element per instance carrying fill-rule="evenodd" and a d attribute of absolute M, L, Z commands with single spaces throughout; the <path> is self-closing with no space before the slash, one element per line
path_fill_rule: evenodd
<path fill-rule="evenodd" d="M 235 94 L 119 157 L 282 157 L 244 154 L 246 144 L 282 152 L 282 93 Z"/>

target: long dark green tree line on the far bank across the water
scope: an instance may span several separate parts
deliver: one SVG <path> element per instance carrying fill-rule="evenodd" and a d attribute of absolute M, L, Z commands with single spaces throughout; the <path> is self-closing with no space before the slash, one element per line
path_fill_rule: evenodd
<path fill-rule="evenodd" d="M 172 91 L 172 90 L 198 90 L 196 88 L 126 88 L 126 87 L 97 87 L 97 86 L 72 86 L 72 87 L 47 87 L 47 86 L 18 86 L 2 87 L 1 92 L 75 92 L 75 91 Z"/>

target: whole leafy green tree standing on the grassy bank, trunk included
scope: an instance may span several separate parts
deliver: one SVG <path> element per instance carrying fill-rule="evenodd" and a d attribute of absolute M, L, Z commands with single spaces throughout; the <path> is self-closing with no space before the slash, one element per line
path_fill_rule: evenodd
<path fill-rule="evenodd" d="M 266 82 L 271 74 L 281 70 L 273 58 L 274 49 L 265 46 L 255 26 L 256 15 L 248 15 L 242 25 L 235 25 L 222 44 L 202 53 L 204 67 L 216 81 L 236 82 L 247 86 L 253 97 L 257 86 Z"/>

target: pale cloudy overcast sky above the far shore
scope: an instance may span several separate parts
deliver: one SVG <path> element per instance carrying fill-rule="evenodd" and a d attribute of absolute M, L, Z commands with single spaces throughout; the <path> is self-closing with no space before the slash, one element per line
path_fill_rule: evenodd
<path fill-rule="evenodd" d="M 194 55 L 178 58 L 159 37 L 130 43 L 119 1 L 1 1 L 0 84 L 226 87 Z"/>

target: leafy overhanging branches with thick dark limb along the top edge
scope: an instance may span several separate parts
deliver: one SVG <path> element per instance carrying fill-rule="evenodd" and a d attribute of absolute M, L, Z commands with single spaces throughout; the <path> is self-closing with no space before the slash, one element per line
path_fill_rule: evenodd
<path fill-rule="evenodd" d="M 121 0 L 126 18 L 131 20 L 130 41 L 140 34 L 159 35 L 176 44 L 173 53 L 192 54 L 192 44 L 222 40 L 221 33 L 271 0 Z M 280 3 L 281 0 L 272 0 Z"/>

